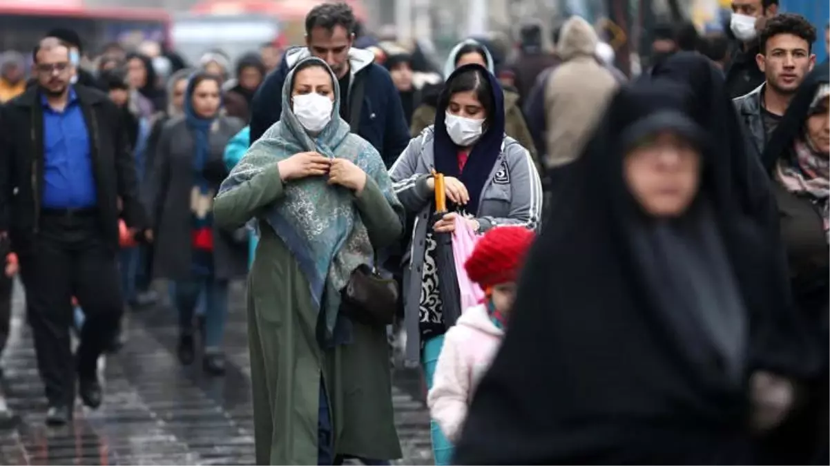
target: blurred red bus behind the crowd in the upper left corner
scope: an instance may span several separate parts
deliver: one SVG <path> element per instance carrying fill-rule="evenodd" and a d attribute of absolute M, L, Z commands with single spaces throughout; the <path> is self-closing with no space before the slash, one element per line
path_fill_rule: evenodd
<path fill-rule="evenodd" d="M 86 53 L 119 41 L 137 46 L 141 41 L 170 39 L 171 17 L 154 8 L 87 8 L 72 0 L 0 0 L 0 51 L 27 54 L 56 27 L 81 36 Z"/>

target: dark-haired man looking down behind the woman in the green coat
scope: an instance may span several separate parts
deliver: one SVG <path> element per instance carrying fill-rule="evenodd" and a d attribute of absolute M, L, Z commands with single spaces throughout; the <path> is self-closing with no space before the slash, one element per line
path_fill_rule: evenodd
<path fill-rule="evenodd" d="M 331 67 L 340 88 L 340 116 L 366 139 L 387 167 L 409 144 L 409 127 L 398 90 L 371 51 L 352 47 L 356 20 L 343 2 L 321 3 L 305 17 L 305 47 L 292 48 L 256 91 L 251 103 L 251 143 L 261 138 L 282 113 L 282 85 L 300 59 L 317 56 Z"/>

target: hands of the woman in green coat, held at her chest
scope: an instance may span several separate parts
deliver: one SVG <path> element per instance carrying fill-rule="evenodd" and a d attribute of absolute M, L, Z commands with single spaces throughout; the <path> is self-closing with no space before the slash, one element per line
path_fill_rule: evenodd
<path fill-rule="evenodd" d="M 305 177 L 329 175 L 330 185 L 347 187 L 360 193 L 366 186 L 366 172 L 345 158 L 328 158 L 320 153 L 295 153 L 277 163 L 283 182 Z"/>

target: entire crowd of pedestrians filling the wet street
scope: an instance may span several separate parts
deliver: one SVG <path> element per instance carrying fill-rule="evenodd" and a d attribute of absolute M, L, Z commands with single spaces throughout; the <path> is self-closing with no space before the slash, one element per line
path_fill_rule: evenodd
<path fill-rule="evenodd" d="M 828 464 L 830 27 L 732 10 L 637 75 L 581 17 L 440 64 L 344 3 L 235 62 L 6 51 L 0 337 L 20 274 L 65 425 L 125 310 L 222 376 L 245 279 L 257 464 L 399 458 L 390 361 L 437 465 Z"/>

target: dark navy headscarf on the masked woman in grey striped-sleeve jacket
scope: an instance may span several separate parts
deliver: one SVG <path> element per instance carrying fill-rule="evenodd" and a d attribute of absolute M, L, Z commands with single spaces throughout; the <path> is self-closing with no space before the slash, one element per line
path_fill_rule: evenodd
<path fill-rule="evenodd" d="M 492 114 L 487 115 L 486 127 L 481 138 L 473 146 L 463 170 L 458 167 L 458 151 L 460 148 L 452 142 L 447 134 L 447 125 L 444 122 L 445 112 L 450 104 L 449 94 L 452 81 L 466 71 L 476 70 L 490 84 L 491 99 L 493 101 Z M 505 97 L 496 76 L 486 70 L 484 66 L 471 64 L 458 67 L 452 72 L 438 99 L 435 113 L 435 138 L 432 150 L 435 154 L 435 169 L 447 177 L 456 177 L 467 188 L 470 201 L 467 202 L 468 213 L 476 215 L 479 197 L 486 182 L 490 181 L 493 167 L 501 153 L 501 143 L 505 138 Z"/>

